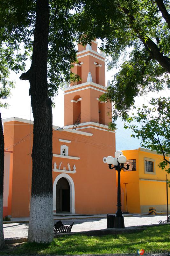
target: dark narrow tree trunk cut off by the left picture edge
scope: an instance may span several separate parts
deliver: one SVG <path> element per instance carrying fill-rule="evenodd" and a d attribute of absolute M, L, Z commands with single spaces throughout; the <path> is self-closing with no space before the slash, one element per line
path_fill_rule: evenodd
<path fill-rule="evenodd" d="M 4 192 L 4 134 L 0 112 L 0 249 L 5 245 L 3 230 L 3 192 Z"/>

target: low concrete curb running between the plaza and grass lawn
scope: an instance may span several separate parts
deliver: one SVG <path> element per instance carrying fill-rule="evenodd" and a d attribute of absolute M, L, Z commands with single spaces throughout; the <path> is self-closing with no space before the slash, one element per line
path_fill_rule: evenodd
<path fill-rule="evenodd" d="M 146 228 L 160 226 L 160 225 L 167 225 L 167 224 L 170 225 L 170 223 L 164 223 L 164 224 L 133 226 L 133 227 L 126 227 L 126 228 L 105 228 L 105 229 L 96 229 L 96 230 L 79 231 L 79 232 L 71 232 L 71 233 L 59 233 L 59 234 L 55 234 L 54 238 L 57 238 L 59 236 L 72 236 L 72 235 L 77 235 L 77 234 L 82 234 L 82 235 L 86 235 L 86 236 L 105 236 L 105 235 L 136 233 L 136 232 L 146 230 Z M 15 238 L 5 238 L 5 244 L 15 244 L 15 243 L 23 243 L 23 242 L 27 242 L 27 236 L 15 237 Z"/>

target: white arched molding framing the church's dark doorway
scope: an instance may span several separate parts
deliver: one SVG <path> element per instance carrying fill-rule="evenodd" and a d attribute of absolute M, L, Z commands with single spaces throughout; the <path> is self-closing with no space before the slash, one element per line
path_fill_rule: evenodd
<path fill-rule="evenodd" d="M 72 214 L 75 213 L 75 189 L 74 189 L 74 181 L 73 179 L 70 177 L 70 175 L 68 175 L 67 173 L 61 173 L 59 174 L 53 183 L 53 211 L 56 211 L 56 185 L 57 185 L 57 181 L 60 180 L 60 178 L 65 178 L 69 185 L 70 185 L 70 212 Z"/>

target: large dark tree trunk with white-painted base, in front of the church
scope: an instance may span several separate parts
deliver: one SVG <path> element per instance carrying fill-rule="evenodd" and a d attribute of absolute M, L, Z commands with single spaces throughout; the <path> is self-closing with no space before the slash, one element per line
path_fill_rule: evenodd
<path fill-rule="evenodd" d="M 32 191 L 28 242 L 53 240 L 52 107 L 48 98 L 48 0 L 37 0 L 32 64 L 21 79 L 29 80 L 34 117 Z"/>

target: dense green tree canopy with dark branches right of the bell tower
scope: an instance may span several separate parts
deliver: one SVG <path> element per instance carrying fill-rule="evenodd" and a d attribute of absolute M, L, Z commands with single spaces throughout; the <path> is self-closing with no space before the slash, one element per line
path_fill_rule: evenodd
<path fill-rule="evenodd" d="M 117 67 L 108 93 L 101 97 L 113 102 L 113 121 L 126 119 L 135 96 L 170 88 L 169 10 L 166 0 L 92 0 L 84 1 L 77 14 L 79 42 L 101 39 L 108 69 Z"/>

